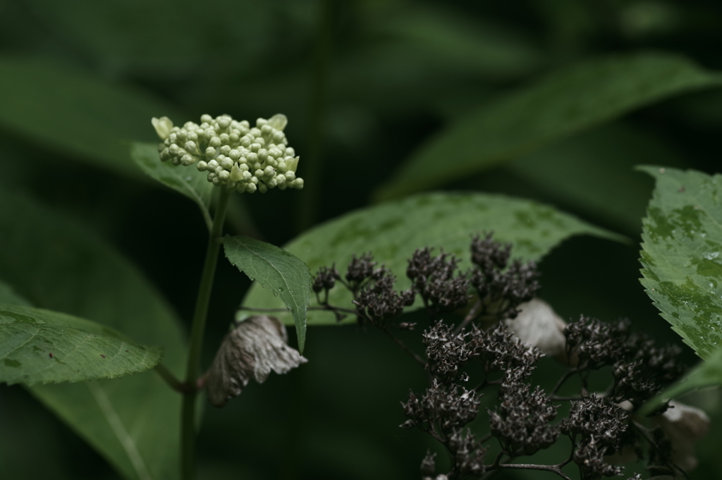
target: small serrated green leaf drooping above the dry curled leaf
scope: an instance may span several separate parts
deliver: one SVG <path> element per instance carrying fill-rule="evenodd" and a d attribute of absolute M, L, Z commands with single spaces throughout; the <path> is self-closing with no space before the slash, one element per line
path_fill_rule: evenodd
<path fill-rule="evenodd" d="M 298 350 L 303 353 L 306 339 L 306 307 L 312 281 L 308 266 L 297 257 L 270 243 L 249 237 L 229 237 L 223 241 L 225 256 L 256 287 L 267 288 L 290 308 L 298 336 Z"/>

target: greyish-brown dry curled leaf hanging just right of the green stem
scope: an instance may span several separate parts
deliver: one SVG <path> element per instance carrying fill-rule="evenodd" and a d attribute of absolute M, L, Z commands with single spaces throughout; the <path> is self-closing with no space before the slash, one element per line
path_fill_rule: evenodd
<path fill-rule="evenodd" d="M 308 362 L 287 341 L 286 328 L 278 318 L 254 315 L 240 322 L 223 339 L 207 374 L 211 404 L 225 406 L 251 378 L 264 383 L 271 370 L 286 373 Z"/>

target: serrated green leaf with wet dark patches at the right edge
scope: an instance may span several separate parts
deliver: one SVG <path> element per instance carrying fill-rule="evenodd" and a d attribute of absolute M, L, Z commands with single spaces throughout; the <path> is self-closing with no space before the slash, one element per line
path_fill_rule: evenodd
<path fill-rule="evenodd" d="M 707 358 L 722 346 L 722 176 L 640 170 L 657 181 L 643 220 L 641 282 L 684 343 Z"/>

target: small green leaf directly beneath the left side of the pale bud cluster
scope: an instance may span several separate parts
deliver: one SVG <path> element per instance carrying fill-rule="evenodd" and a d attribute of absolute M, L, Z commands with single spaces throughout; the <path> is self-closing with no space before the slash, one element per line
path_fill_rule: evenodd
<path fill-rule="evenodd" d="M 134 143 L 131 157 L 147 175 L 196 202 L 206 226 L 211 229 L 213 220 L 209 208 L 214 186 L 206 179 L 207 173 L 199 172 L 196 167 L 176 167 L 170 162 L 161 162 L 157 144 Z"/>

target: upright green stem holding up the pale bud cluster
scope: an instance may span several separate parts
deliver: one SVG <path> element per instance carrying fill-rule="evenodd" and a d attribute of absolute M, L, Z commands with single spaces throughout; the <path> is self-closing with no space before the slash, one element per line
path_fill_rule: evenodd
<path fill-rule="evenodd" d="M 196 297 L 196 311 L 191 326 L 191 344 L 188 347 L 188 365 L 186 367 L 186 385 L 196 385 L 198 379 L 203 334 L 206 329 L 208 305 L 213 289 L 213 277 L 216 273 L 218 251 L 223 241 L 223 221 L 225 219 L 228 198 L 231 191 L 221 187 L 218 205 L 208 238 L 206 261 L 201 275 L 201 286 Z M 181 478 L 193 480 L 196 477 L 196 388 L 188 388 L 183 393 L 183 411 L 181 413 Z"/>

